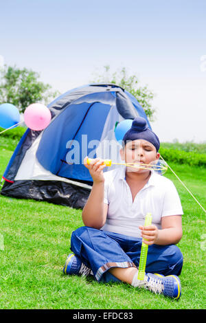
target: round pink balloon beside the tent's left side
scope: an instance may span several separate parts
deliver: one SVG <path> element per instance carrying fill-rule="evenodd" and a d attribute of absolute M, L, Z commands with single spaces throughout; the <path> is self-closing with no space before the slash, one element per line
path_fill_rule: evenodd
<path fill-rule="evenodd" d="M 52 119 L 49 109 L 41 103 L 30 104 L 24 112 L 24 121 L 32 130 L 43 130 Z"/>

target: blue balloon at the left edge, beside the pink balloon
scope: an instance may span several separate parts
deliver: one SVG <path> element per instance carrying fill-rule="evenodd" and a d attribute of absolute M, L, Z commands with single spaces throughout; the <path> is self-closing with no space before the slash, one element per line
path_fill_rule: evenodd
<path fill-rule="evenodd" d="M 19 110 L 10 103 L 3 103 L 0 105 L 0 126 L 1 128 L 8 129 L 14 124 L 19 123 L 20 114 Z"/>

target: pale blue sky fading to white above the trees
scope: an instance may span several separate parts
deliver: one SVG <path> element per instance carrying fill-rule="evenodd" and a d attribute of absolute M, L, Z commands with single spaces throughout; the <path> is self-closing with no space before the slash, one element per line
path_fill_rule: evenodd
<path fill-rule="evenodd" d="M 60 92 L 126 67 L 156 93 L 161 141 L 206 140 L 205 0 L 0 0 L 0 13 L 7 65 Z"/>

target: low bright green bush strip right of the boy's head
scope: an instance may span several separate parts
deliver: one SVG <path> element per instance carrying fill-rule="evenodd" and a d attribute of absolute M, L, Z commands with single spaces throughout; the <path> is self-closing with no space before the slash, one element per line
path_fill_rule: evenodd
<path fill-rule="evenodd" d="M 186 151 L 179 151 L 179 149 L 160 148 L 159 153 L 165 161 L 172 161 L 178 164 L 187 164 L 190 166 L 206 167 L 206 154 L 199 154 Z"/>

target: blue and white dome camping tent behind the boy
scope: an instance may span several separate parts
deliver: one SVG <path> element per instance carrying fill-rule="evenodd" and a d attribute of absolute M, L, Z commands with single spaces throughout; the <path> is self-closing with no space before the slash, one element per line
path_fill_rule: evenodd
<path fill-rule="evenodd" d="M 150 123 L 136 98 L 113 84 L 72 89 L 48 109 L 49 126 L 43 131 L 27 129 L 16 146 L 1 194 L 83 208 L 93 183 L 82 164 L 84 157 L 119 161 L 117 123 L 138 115 L 151 128 Z"/>

